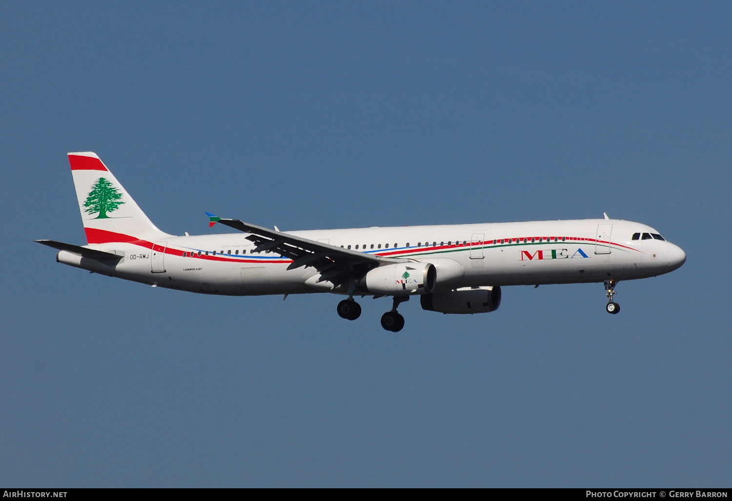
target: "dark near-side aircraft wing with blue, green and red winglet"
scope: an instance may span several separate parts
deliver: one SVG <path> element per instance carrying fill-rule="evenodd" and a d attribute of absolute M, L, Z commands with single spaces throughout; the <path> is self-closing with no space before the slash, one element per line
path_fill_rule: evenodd
<path fill-rule="evenodd" d="M 254 242 L 253 252 L 272 251 L 292 259 L 288 270 L 301 266 L 312 266 L 320 272 L 318 282 L 329 281 L 335 285 L 348 282 L 348 279 L 361 275 L 381 264 L 396 263 L 401 259 L 389 259 L 373 254 L 351 251 L 335 245 L 315 242 L 307 238 L 275 231 L 264 226 L 244 223 L 238 219 L 217 218 L 209 214 L 212 223 L 221 223 L 249 235 L 247 240 Z"/>

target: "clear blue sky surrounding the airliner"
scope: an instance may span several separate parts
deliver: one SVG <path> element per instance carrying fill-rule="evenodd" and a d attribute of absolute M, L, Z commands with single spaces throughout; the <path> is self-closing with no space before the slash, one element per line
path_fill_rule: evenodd
<path fill-rule="evenodd" d="M 722 486 L 726 2 L 0 4 L 0 483 Z M 207 297 L 89 275 L 66 153 L 157 226 L 560 218 L 657 228 L 680 270 L 501 308 Z"/>

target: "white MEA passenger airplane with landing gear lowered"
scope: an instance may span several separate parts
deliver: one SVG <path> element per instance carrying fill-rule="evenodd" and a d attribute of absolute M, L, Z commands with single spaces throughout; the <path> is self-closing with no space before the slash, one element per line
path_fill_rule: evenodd
<path fill-rule="evenodd" d="M 678 269 L 686 254 L 642 223 L 610 219 L 280 231 L 219 218 L 230 234 L 176 236 L 157 229 L 93 152 L 69 153 L 86 245 L 35 240 L 56 261 L 153 287 L 250 296 L 327 292 L 355 320 L 354 296 L 392 297 L 381 327 L 399 332 L 400 303 L 419 297 L 438 313 L 488 313 L 501 287 L 604 283 L 616 314 L 619 281 Z"/>

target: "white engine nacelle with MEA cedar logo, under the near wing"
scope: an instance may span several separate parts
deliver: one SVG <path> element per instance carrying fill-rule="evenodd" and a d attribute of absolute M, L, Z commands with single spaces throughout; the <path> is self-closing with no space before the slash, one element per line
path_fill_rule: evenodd
<path fill-rule="evenodd" d="M 403 296 L 435 289 L 437 270 L 430 263 L 386 264 L 367 272 L 359 286 L 371 294 Z"/>

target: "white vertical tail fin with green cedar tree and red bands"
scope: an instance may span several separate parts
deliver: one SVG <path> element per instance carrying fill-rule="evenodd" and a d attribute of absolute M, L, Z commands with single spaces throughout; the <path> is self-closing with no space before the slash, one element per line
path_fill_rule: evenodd
<path fill-rule="evenodd" d="M 172 236 L 157 229 L 96 153 L 69 153 L 69 163 L 87 242 L 154 242 Z"/>

